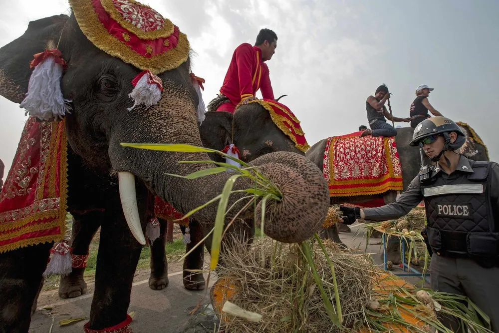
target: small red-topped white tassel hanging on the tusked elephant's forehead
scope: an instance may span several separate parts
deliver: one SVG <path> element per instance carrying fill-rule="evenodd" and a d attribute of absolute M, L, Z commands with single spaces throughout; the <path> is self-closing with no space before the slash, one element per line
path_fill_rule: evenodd
<path fill-rule="evenodd" d="M 132 80 L 134 88 L 128 95 L 133 99 L 133 106 L 128 110 L 132 110 L 135 106 L 144 104 L 149 107 L 156 104 L 161 99 L 161 91 L 163 91 L 163 83 L 161 79 L 154 75 L 150 70 L 146 70 L 135 76 Z"/>

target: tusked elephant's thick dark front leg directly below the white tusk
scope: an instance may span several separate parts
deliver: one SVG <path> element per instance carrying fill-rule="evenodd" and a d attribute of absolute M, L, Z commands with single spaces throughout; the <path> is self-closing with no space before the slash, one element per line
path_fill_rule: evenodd
<path fill-rule="evenodd" d="M 141 221 L 147 221 L 147 204 L 145 200 L 140 200 L 147 194 L 138 192 L 139 214 L 143 212 L 139 216 Z M 127 319 L 133 277 L 142 249 L 127 226 L 119 198 L 106 212 L 109 214 L 106 214 L 106 221 L 101 225 L 95 292 L 90 320 L 86 324 L 91 330 L 110 328 L 123 324 Z M 145 226 L 142 227 L 144 232 Z"/>

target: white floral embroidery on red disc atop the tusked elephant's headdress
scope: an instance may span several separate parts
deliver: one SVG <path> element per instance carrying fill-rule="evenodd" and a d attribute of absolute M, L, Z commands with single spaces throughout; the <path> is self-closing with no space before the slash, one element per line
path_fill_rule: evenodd
<path fill-rule="evenodd" d="M 148 8 L 139 3 L 128 0 L 113 0 L 113 4 L 124 20 L 132 23 L 144 32 L 160 30 L 165 24 L 165 19 L 153 8 Z"/>

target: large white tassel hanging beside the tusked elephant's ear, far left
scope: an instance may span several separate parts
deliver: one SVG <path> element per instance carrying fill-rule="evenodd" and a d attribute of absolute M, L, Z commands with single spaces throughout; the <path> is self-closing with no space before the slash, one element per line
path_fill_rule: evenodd
<path fill-rule="evenodd" d="M 40 53 L 41 54 L 41 53 Z M 46 55 L 35 67 L 29 77 L 28 92 L 19 107 L 26 109 L 26 114 L 42 121 L 62 119 L 70 113 L 70 102 L 62 96 L 60 81 L 63 67 L 55 61 L 53 54 Z"/>

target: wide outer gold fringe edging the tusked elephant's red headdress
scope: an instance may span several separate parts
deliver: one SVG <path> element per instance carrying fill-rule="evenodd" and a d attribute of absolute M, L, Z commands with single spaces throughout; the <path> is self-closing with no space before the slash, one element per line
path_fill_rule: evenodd
<path fill-rule="evenodd" d="M 159 74 L 177 68 L 189 57 L 189 40 L 179 30 L 179 41 L 173 49 L 146 58 L 130 46 L 110 35 L 102 25 L 90 1 L 69 0 L 78 25 L 85 36 L 99 49 L 109 55 L 132 64 L 141 70 L 151 70 Z"/>

